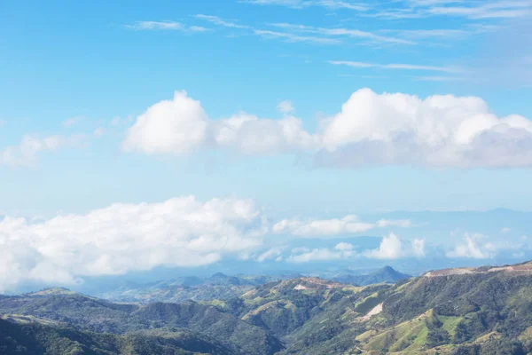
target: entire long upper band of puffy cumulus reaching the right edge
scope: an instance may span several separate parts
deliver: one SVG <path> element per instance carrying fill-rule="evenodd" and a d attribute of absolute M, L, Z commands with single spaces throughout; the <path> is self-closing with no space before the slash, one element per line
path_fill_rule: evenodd
<path fill-rule="evenodd" d="M 284 107 L 287 109 L 288 107 Z M 532 165 L 532 122 L 497 117 L 480 98 L 356 91 L 316 132 L 291 115 L 211 120 L 184 91 L 137 117 L 122 147 L 145 154 L 223 149 L 241 154 L 315 154 L 317 166 L 368 164 L 500 168 Z"/>

